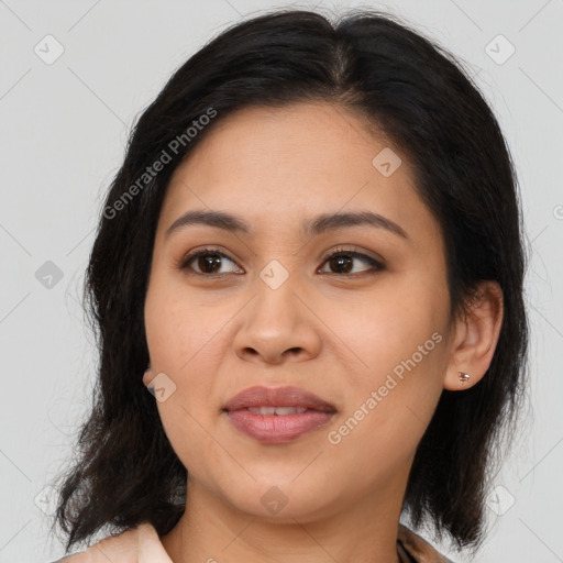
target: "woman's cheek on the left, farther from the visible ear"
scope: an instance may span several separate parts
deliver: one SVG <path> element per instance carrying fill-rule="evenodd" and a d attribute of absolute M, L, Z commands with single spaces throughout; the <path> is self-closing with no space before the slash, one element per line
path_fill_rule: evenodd
<path fill-rule="evenodd" d="M 196 306 L 194 303 L 197 303 Z M 145 331 L 155 373 L 166 374 L 174 393 L 157 402 L 168 439 L 185 464 L 190 452 L 209 445 L 202 428 L 218 407 L 212 404 L 217 377 L 224 356 L 225 330 L 234 311 L 213 307 L 190 295 L 186 286 L 172 284 L 164 276 L 151 280 L 145 299 Z M 189 437 L 189 440 L 187 440 Z"/>

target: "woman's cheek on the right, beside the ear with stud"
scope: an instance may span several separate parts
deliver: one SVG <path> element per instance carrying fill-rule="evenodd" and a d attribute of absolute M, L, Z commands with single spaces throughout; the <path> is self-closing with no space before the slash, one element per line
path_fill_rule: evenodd
<path fill-rule="evenodd" d="M 350 444 L 378 437 L 382 450 L 376 444 L 373 455 L 416 449 L 442 393 L 449 301 L 435 285 L 419 284 L 418 290 L 389 285 L 362 307 L 346 309 L 352 313 L 334 324 L 358 358 L 355 369 L 343 372 L 352 420 L 342 430 L 355 434 L 346 439 Z"/>

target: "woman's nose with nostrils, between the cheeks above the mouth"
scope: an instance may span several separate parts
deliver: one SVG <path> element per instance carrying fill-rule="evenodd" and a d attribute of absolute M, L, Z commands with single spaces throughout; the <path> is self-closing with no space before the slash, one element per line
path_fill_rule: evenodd
<path fill-rule="evenodd" d="M 303 362 L 320 353 L 322 322 L 290 278 L 277 289 L 257 280 L 256 295 L 241 311 L 242 322 L 234 336 L 235 352 L 242 360 L 280 364 Z"/>

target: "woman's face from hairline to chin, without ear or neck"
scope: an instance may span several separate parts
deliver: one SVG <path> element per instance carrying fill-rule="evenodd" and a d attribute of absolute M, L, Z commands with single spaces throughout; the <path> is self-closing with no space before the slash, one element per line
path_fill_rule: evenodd
<path fill-rule="evenodd" d="M 341 107 L 251 108 L 213 128 L 176 169 L 154 245 L 143 380 L 161 374 L 166 434 L 190 482 L 245 512 L 306 521 L 390 506 L 451 368 L 439 225 L 400 150 Z M 190 211 L 234 216 L 247 232 L 167 232 Z M 224 410 L 253 386 L 295 386 L 333 412 L 271 433 L 263 415 Z M 244 417 L 258 435 L 233 423 Z"/>

